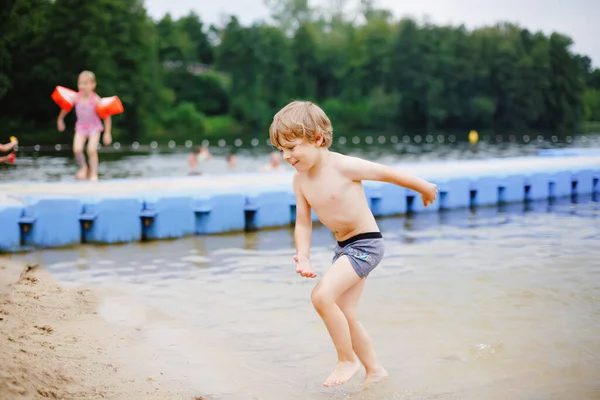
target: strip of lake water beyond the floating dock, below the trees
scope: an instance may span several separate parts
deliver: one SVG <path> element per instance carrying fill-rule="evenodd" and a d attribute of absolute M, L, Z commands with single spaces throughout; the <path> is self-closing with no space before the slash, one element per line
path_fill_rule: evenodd
<path fill-rule="evenodd" d="M 466 136 L 466 134 L 465 134 Z M 417 139 L 418 138 L 418 139 Z M 205 174 L 222 174 L 235 171 L 257 171 L 269 162 L 272 147 L 266 143 L 268 135 L 240 137 L 210 141 L 209 148 L 214 158 L 203 162 L 200 171 Z M 408 136 L 382 135 L 336 135 L 335 151 L 365 157 L 384 164 L 396 162 L 461 160 L 489 157 L 513 157 L 536 155 L 540 149 L 557 147 L 600 147 L 600 134 L 585 136 L 528 136 L 505 135 L 486 137 L 482 135 L 477 151 L 464 140 L 451 135 Z M 221 141 L 222 140 L 222 141 Z M 452 140 L 452 141 L 451 141 Z M 176 144 L 175 144 L 176 145 Z M 185 144 L 170 149 L 168 146 L 152 149 L 149 145 L 140 145 L 133 150 L 130 145 L 117 146 L 119 149 L 104 148 L 100 153 L 100 178 L 186 176 L 190 173 L 188 155 L 191 149 Z M 77 165 L 68 145 L 60 150 L 23 146 L 19 149 L 14 165 L 0 164 L 1 181 L 60 181 L 73 180 Z M 230 168 L 226 156 L 237 153 L 237 165 Z M 291 171 L 291 167 L 287 166 Z"/>

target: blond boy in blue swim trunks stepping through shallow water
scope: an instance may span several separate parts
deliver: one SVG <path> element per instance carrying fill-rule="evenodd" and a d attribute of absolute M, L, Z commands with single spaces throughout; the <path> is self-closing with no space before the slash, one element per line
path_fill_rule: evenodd
<path fill-rule="evenodd" d="M 315 278 L 310 264 L 311 208 L 337 240 L 333 264 L 311 294 L 337 350 L 338 364 L 324 386 L 348 382 L 364 365 L 365 385 L 387 378 L 371 339 L 357 319 L 356 307 L 369 273 L 383 258 L 383 238 L 371 213 L 363 180 L 389 182 L 421 193 L 427 207 L 436 185 L 399 170 L 329 151 L 333 135 L 329 118 L 317 105 L 293 101 L 273 118 L 271 142 L 295 169 L 294 240 L 296 272 Z M 400 199 L 398 200 L 400 201 Z M 355 357 L 358 356 L 358 360 Z"/>

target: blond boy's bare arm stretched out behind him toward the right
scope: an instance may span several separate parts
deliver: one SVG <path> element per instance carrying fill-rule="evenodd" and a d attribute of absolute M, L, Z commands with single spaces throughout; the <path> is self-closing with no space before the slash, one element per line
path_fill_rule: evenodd
<path fill-rule="evenodd" d="M 341 167 L 355 181 L 388 182 L 419 192 L 425 206 L 437 197 L 435 184 L 396 168 L 351 156 L 344 156 Z"/>

